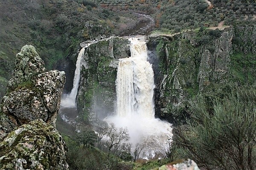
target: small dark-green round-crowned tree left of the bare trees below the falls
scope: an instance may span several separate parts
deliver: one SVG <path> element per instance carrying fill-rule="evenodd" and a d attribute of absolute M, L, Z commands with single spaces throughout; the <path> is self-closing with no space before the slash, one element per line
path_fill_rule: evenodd
<path fill-rule="evenodd" d="M 76 136 L 77 141 L 82 143 L 84 147 L 87 147 L 87 144 L 94 145 L 97 141 L 97 135 L 90 128 L 82 128 L 81 132 Z"/>

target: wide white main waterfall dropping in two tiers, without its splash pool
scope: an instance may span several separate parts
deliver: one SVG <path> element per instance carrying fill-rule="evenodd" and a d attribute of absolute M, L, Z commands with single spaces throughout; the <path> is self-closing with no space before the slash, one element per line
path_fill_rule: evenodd
<path fill-rule="evenodd" d="M 147 61 L 145 41 L 130 38 L 131 57 L 119 59 L 116 77 L 116 113 L 154 118 L 154 72 Z"/>

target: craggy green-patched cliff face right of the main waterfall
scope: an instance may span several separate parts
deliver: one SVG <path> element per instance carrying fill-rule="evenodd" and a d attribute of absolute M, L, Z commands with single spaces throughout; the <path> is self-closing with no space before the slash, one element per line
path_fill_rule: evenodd
<path fill-rule="evenodd" d="M 255 83 L 254 29 L 237 25 L 151 38 L 148 44 L 157 44 L 160 67 L 155 74 L 156 115 L 180 123 L 189 116 L 189 99 L 198 94 L 222 97 L 230 85 Z M 237 43 L 234 37 L 243 40 Z"/>

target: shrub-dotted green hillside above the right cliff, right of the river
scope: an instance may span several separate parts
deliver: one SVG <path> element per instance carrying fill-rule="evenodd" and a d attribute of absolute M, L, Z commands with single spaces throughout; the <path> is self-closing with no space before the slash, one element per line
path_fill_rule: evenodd
<path fill-rule="evenodd" d="M 210 0 L 209 6 L 205 0 L 163 0 L 158 2 L 156 19 L 159 28 L 178 32 L 181 29 L 191 29 L 204 26 L 218 26 L 222 20 L 226 24 L 236 20 L 251 20 L 255 14 L 256 3 L 253 0 Z"/>

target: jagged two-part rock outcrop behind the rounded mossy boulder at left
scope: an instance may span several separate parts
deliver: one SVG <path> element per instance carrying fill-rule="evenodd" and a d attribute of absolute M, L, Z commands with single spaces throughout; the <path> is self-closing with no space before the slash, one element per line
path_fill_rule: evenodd
<path fill-rule="evenodd" d="M 43 119 L 55 126 L 65 72 L 54 70 L 42 73 L 44 62 L 31 45 L 25 45 L 16 56 L 15 71 L 20 70 L 24 74 L 13 75 L 9 81 L 9 85 L 13 86 L 7 88 L 2 99 L 0 139 L 13 128 L 35 119 Z"/>

